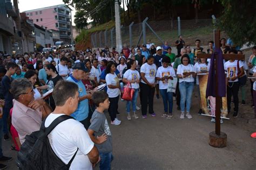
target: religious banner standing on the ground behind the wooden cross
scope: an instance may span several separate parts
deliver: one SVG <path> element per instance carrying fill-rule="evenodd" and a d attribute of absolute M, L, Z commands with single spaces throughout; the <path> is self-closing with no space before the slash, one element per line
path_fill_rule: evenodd
<path fill-rule="evenodd" d="M 201 98 L 201 109 L 203 110 L 205 116 L 215 116 L 215 97 L 209 96 L 206 98 L 206 88 L 208 74 L 199 74 L 199 89 Z M 213 85 L 214 86 L 214 85 Z M 227 97 L 222 97 L 220 102 L 221 117 L 227 118 Z"/>

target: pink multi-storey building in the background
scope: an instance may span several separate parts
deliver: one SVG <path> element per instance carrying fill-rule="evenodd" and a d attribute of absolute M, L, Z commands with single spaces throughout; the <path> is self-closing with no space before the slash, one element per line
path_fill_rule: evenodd
<path fill-rule="evenodd" d="M 71 43 L 71 11 L 68 6 L 61 4 L 24 12 L 34 24 L 59 31 L 60 41 Z"/>

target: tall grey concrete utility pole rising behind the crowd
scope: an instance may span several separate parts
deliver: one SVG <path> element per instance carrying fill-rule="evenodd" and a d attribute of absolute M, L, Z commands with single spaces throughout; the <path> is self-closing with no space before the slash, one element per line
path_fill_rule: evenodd
<path fill-rule="evenodd" d="M 122 0 L 119 0 L 122 1 Z M 119 12 L 119 1 L 115 0 L 114 2 L 114 13 L 116 17 L 116 48 L 118 52 L 122 51 L 122 37 L 121 37 L 121 21 L 120 21 L 120 12 Z"/>

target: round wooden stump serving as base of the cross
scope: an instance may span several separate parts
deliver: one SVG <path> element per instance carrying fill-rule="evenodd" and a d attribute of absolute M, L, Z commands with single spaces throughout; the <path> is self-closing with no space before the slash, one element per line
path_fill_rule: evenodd
<path fill-rule="evenodd" d="M 224 132 L 220 132 L 220 135 L 217 135 L 215 131 L 209 134 L 210 141 L 209 145 L 213 147 L 226 147 L 227 146 L 227 134 Z"/>

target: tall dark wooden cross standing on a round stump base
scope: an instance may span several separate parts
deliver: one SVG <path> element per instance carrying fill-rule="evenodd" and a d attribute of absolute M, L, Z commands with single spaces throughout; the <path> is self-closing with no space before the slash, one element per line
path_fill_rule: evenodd
<path fill-rule="evenodd" d="M 223 58 L 220 59 L 218 55 L 219 53 L 217 53 L 221 51 L 220 30 L 214 30 L 214 44 L 215 44 L 215 49 L 214 49 L 213 55 L 215 60 L 215 64 L 214 64 L 215 67 L 210 68 L 209 78 L 210 76 L 215 75 L 213 77 L 215 84 L 207 84 L 207 90 L 208 90 L 208 87 L 215 86 L 214 93 L 215 93 L 215 100 L 216 100 L 216 103 L 215 103 L 215 120 L 216 121 L 215 121 L 215 132 L 213 131 L 210 133 L 209 144 L 213 147 L 225 147 L 227 145 L 227 135 L 226 133 L 220 131 L 220 101 L 221 101 L 221 97 L 224 97 L 221 95 L 221 90 L 223 90 L 223 88 L 226 89 L 226 81 L 221 81 L 221 80 L 223 80 L 223 77 L 226 77 L 226 76 L 224 73 L 224 66 L 221 66 L 221 63 L 223 65 L 223 59 L 244 60 L 245 55 L 244 54 L 222 54 Z M 212 54 L 198 54 L 197 58 L 210 59 L 211 56 Z M 219 61 L 219 60 L 222 60 L 222 61 Z M 211 63 L 214 63 L 214 61 Z M 208 80 L 208 83 L 209 83 L 209 80 Z M 224 91 L 226 95 L 226 90 Z"/>

